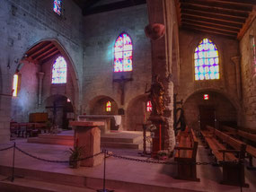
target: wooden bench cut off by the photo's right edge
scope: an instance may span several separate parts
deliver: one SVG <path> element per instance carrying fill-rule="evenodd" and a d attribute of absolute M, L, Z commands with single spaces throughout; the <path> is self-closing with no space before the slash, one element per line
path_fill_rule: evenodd
<path fill-rule="evenodd" d="M 232 133 L 235 138 L 246 143 L 246 153 L 249 158 L 249 166 L 247 169 L 256 170 L 256 167 L 253 167 L 252 158 L 256 158 L 256 147 L 252 146 L 250 142 L 256 142 L 256 135 L 252 133 L 248 133 L 239 129 L 235 129 L 233 127 L 222 126 L 222 129 L 227 131 L 228 133 Z"/>

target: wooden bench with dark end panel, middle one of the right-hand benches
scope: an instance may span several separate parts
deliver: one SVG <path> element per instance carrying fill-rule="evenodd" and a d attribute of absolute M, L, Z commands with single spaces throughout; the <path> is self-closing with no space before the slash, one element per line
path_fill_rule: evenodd
<path fill-rule="evenodd" d="M 246 144 L 213 127 L 207 126 L 205 141 L 216 162 L 223 168 L 223 184 L 249 187 L 244 179 L 243 159 Z M 236 163 L 234 163 L 236 162 Z M 241 162 L 241 163 L 240 163 Z"/>

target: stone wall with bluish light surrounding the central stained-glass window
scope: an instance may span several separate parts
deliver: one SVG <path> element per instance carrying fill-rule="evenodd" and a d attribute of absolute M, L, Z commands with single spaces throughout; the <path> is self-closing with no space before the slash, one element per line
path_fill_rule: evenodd
<path fill-rule="evenodd" d="M 151 45 L 144 33 L 147 23 L 146 4 L 84 17 L 83 110 L 87 114 L 93 98 L 110 97 L 126 114 L 130 100 L 144 94 L 146 83 L 151 83 Z M 133 42 L 133 71 L 124 75 L 133 80 L 125 83 L 123 105 L 119 83 L 113 82 L 117 74 L 113 73 L 113 48 L 121 32 L 127 32 Z"/>

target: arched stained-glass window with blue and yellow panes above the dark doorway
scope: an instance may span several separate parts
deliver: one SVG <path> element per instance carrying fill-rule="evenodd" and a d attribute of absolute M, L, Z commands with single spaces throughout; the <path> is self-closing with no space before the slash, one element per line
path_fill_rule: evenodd
<path fill-rule="evenodd" d="M 219 79 L 219 57 L 216 45 L 202 39 L 195 50 L 195 80 Z"/>

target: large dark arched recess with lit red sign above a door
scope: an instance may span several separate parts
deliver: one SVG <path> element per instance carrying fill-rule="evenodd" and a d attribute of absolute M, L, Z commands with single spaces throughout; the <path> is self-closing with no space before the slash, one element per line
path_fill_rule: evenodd
<path fill-rule="evenodd" d="M 220 92 L 195 92 L 184 102 L 183 109 L 186 123 L 195 129 L 204 129 L 206 125 L 215 127 L 215 119 L 220 124 L 237 125 L 233 103 Z"/>

